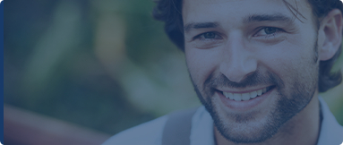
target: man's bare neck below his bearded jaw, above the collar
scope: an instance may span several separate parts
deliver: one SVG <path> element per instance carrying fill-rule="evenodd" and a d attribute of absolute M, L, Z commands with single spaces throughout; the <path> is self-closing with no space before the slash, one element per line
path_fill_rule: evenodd
<path fill-rule="evenodd" d="M 318 141 L 320 126 L 320 106 L 318 92 L 316 92 L 310 103 L 301 112 L 287 121 L 272 138 L 262 143 L 249 145 L 315 145 Z M 214 127 L 214 134 L 217 145 L 236 145 L 232 141 L 227 141 L 219 133 L 216 126 Z"/>

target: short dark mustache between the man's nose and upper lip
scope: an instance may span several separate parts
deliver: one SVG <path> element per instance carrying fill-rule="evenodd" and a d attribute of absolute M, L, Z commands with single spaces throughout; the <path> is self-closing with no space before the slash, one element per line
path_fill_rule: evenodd
<path fill-rule="evenodd" d="M 208 79 L 204 82 L 203 90 L 215 89 L 217 87 L 242 89 L 246 87 L 253 87 L 256 85 L 270 84 L 277 85 L 279 87 L 284 86 L 283 81 L 276 74 L 269 72 L 265 74 L 254 72 L 246 76 L 244 80 L 240 82 L 230 81 L 222 73 L 217 76 L 211 73 Z"/>

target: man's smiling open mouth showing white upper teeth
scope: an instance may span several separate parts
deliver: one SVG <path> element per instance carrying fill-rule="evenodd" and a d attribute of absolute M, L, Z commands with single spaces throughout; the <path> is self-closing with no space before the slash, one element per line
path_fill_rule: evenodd
<path fill-rule="evenodd" d="M 246 92 L 246 93 L 230 93 L 230 92 L 225 92 L 225 91 L 219 91 L 219 92 L 228 99 L 235 100 L 235 101 L 246 101 L 246 100 L 250 100 L 250 99 L 262 96 L 263 94 L 272 90 L 274 87 L 275 86 L 270 86 L 262 90 L 254 90 L 254 91 Z"/>

